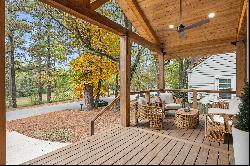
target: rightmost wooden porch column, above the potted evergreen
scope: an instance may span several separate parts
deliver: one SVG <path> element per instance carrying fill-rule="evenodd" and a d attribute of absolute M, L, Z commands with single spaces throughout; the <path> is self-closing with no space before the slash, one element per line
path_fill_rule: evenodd
<path fill-rule="evenodd" d="M 247 50 L 246 41 L 240 41 L 236 45 L 236 95 L 240 96 L 247 80 Z"/>

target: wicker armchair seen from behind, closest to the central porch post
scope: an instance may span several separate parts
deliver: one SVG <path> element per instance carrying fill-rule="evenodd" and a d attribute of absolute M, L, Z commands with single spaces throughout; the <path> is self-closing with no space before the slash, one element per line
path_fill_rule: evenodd
<path fill-rule="evenodd" d="M 154 129 L 163 128 L 163 109 L 159 105 L 148 105 L 143 102 L 137 103 L 136 118 L 149 120 L 149 127 Z"/>

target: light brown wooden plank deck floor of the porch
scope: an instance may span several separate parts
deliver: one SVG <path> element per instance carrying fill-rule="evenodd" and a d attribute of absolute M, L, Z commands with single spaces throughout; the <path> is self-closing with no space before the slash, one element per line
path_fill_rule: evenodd
<path fill-rule="evenodd" d="M 202 118 L 201 118 L 202 119 Z M 129 128 L 116 126 L 56 150 L 25 165 L 232 165 L 232 146 L 204 140 L 203 121 L 197 129 L 178 129 L 166 119 L 164 130 L 147 123 Z"/>

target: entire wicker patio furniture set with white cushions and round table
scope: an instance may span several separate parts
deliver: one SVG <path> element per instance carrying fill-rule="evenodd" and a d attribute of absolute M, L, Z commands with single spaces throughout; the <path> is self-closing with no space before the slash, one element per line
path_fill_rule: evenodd
<path fill-rule="evenodd" d="M 205 139 L 209 141 L 223 142 L 225 134 L 232 134 L 239 98 L 230 102 L 219 101 L 212 104 L 205 115 Z M 138 98 L 136 118 L 149 120 L 149 127 L 162 129 L 163 119 L 168 110 L 176 110 L 174 123 L 178 128 L 194 129 L 199 124 L 198 109 L 190 108 L 188 111 L 182 108 L 182 103 L 176 103 L 172 93 L 161 93 L 150 103 L 144 97 Z"/>

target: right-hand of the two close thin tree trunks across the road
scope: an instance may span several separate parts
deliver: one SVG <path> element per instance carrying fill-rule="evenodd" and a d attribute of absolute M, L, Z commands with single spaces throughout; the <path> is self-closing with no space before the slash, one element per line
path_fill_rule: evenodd
<path fill-rule="evenodd" d="M 52 93 L 52 73 L 51 73 L 51 50 L 50 50 L 50 36 L 48 35 L 48 53 L 47 53 L 47 75 L 48 75 L 48 84 L 47 84 L 47 102 L 51 102 L 51 93 Z"/>

